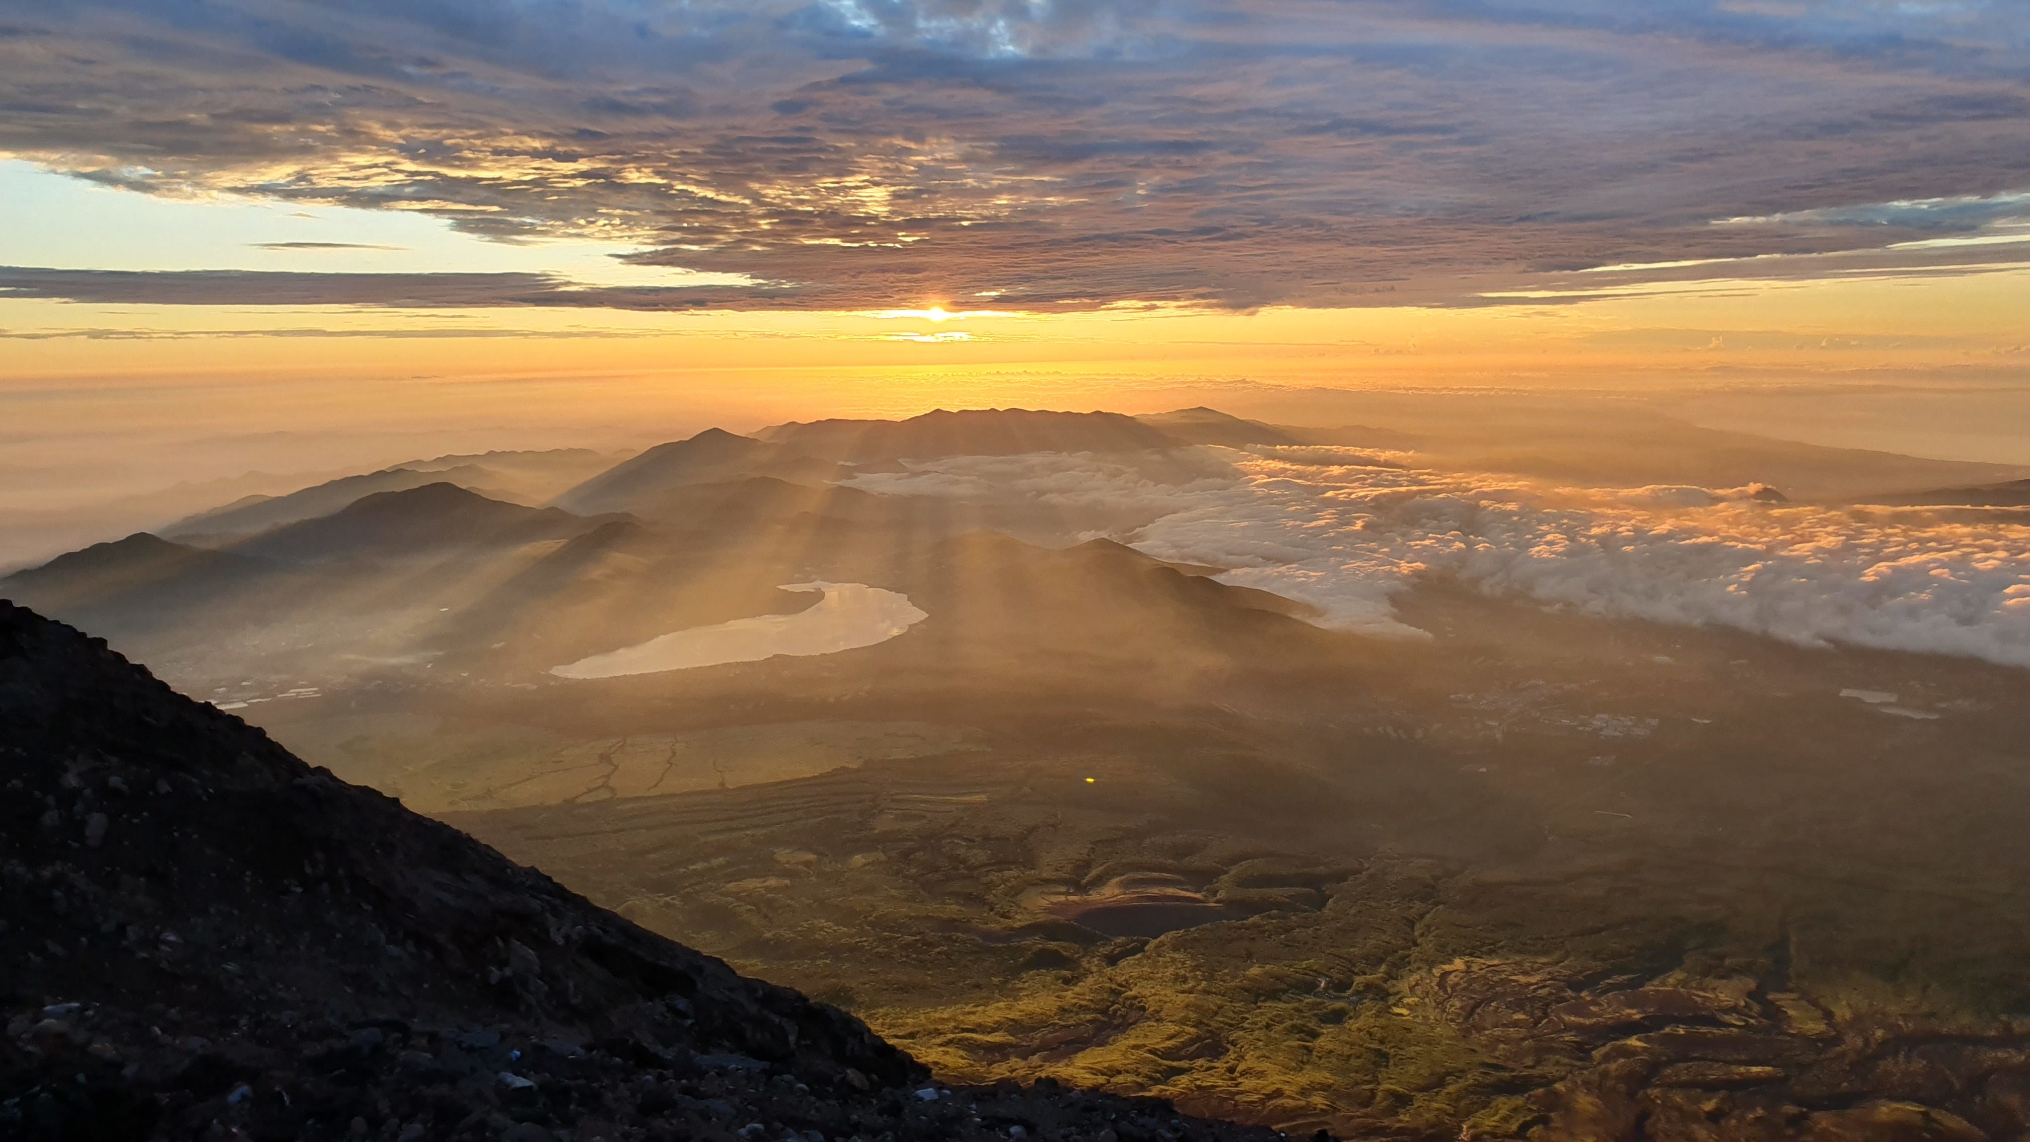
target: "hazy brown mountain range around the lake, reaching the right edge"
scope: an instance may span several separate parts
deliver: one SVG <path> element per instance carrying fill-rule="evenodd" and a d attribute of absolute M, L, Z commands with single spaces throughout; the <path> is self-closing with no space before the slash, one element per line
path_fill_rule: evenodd
<path fill-rule="evenodd" d="M 1043 451 L 1094 453 L 1145 480 L 1181 484 L 1216 473 L 1232 478 L 1234 453 L 1220 449 L 1275 455 L 1275 449 L 1405 443 L 1468 449 L 1494 441 L 1486 425 L 1449 437 L 1437 425 L 1423 425 L 1415 441 L 1391 433 L 1277 427 L 1214 408 L 1139 419 L 1009 408 L 792 423 L 755 437 L 708 429 L 619 461 L 585 449 L 436 457 L 225 504 L 179 520 L 162 536 L 134 534 L 0 579 L 0 591 L 136 638 L 134 646 L 179 669 L 209 654 L 219 673 L 235 673 L 223 664 L 229 656 L 205 650 L 221 640 L 262 648 L 262 660 L 274 669 L 294 669 L 284 664 L 304 656 L 331 671 L 335 662 L 426 654 L 487 677 L 544 671 L 629 644 L 644 630 L 794 610 L 808 599 L 786 597 L 775 583 L 804 579 L 879 583 L 936 599 L 934 618 L 903 648 L 940 642 L 968 656 L 980 646 L 1039 648 L 1039 638 L 1056 636 L 1054 622 L 1064 620 L 1088 632 L 1114 630 L 1102 654 L 1157 652 L 1159 644 L 1192 644 L 1188 628 L 1216 601 L 1255 614 L 1301 614 L 1301 608 L 1210 581 L 1190 587 L 1198 591 L 1190 606 L 1181 595 L 1171 597 L 1171 587 L 1149 583 L 1108 595 L 1108 577 L 1141 575 L 1131 569 L 1155 561 L 1127 549 L 1078 561 L 1029 547 L 1127 534 L 1153 518 L 1133 500 L 1072 502 L 1041 492 L 932 496 L 883 480 L 905 480 L 924 463 L 950 457 Z M 1559 451 L 1555 461 L 1539 463 L 1529 451 L 1474 461 L 1557 480 L 1579 478 L 1594 463 L 1587 457 L 1622 467 L 1652 463 L 1652 473 L 1667 475 L 1689 455 L 1679 429 L 1632 421 L 1628 433 L 1628 447 L 1612 457 L 1596 441 L 1587 445 L 1596 451 Z M 1687 439 L 1705 439 L 1701 433 Z M 1717 449 L 1699 453 L 1707 475 L 1790 473 L 1807 490 L 1817 486 L 1797 465 L 1835 451 L 1778 441 L 1748 447 L 1732 437 L 1707 443 Z M 1845 471 L 1864 459 L 1866 453 L 1837 453 L 1827 463 Z M 1908 475 L 1941 469 L 1908 457 L 1886 463 Z M 1878 500 L 2012 502 L 2012 496 L 2022 496 L 2020 484 Z M 966 538 L 970 532 L 1023 543 Z M 1037 606 L 1052 622 L 1005 622 L 1011 577 L 1025 591 L 1039 591 Z M 1088 597 L 1114 597 L 1110 606 L 1129 616 L 1127 626 L 1114 624 L 1112 612 L 1084 606 Z M 1137 634 L 1135 622 L 1145 622 L 1149 634 Z M 1005 656 L 995 669 L 1011 662 Z"/>

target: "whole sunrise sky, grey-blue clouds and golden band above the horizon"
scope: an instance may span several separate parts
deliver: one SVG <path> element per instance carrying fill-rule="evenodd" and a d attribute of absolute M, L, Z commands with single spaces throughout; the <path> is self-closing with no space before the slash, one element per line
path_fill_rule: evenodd
<path fill-rule="evenodd" d="M 2020 0 L 18 0 L 0 108 L 24 482 L 1238 384 L 2030 461 Z"/>

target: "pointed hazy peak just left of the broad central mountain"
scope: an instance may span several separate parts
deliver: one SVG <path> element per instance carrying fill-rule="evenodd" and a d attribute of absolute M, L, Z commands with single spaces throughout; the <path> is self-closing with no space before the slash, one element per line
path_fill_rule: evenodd
<path fill-rule="evenodd" d="M 836 463 L 798 455 L 782 445 L 706 429 L 684 441 L 656 445 L 607 471 L 570 488 L 554 500 L 566 512 L 633 512 L 644 516 L 674 514 L 672 498 L 692 484 L 723 484 L 749 475 L 777 480 L 822 482 L 836 473 Z"/>

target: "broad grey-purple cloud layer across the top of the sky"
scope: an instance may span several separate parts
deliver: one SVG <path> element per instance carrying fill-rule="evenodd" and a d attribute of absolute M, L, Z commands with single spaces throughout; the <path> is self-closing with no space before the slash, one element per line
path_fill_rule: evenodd
<path fill-rule="evenodd" d="M 24 0 L 0 150 L 767 282 L 510 305 L 1478 305 L 2022 221 L 2026 69 L 2020 0 Z"/>

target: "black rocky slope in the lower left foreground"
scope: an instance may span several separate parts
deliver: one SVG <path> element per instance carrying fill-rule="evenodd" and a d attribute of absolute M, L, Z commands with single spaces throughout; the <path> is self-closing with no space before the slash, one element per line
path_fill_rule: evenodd
<path fill-rule="evenodd" d="M 0 1138 L 1273 1138 L 940 1087 L 6 601 L 0 1004 Z"/>

